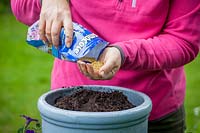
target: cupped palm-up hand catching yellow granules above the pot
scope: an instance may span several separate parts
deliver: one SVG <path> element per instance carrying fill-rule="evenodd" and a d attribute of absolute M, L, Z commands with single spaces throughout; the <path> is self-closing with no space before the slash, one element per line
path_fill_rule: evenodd
<path fill-rule="evenodd" d="M 95 71 L 90 63 L 78 61 L 78 67 L 85 76 L 93 80 L 112 79 L 121 66 L 121 53 L 116 47 L 107 47 L 100 55 L 99 60 L 104 65 Z"/>

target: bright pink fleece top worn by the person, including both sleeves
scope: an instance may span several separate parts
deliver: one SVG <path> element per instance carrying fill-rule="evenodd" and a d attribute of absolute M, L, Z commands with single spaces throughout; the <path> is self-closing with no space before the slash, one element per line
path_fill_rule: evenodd
<path fill-rule="evenodd" d="M 40 0 L 11 0 L 16 18 L 26 25 L 39 19 Z M 55 59 L 52 89 L 77 85 L 114 85 L 147 94 L 149 120 L 184 103 L 183 65 L 200 46 L 199 0 L 70 0 L 72 19 L 123 52 L 123 65 L 111 80 L 90 80 L 76 63 Z"/>

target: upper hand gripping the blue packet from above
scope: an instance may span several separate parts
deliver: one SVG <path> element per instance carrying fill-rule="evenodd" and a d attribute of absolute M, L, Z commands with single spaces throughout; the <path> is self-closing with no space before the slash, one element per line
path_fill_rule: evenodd
<path fill-rule="evenodd" d="M 40 39 L 58 48 L 61 28 L 64 27 L 66 44 L 70 47 L 73 35 L 73 25 L 69 1 L 67 0 L 42 0 L 39 19 Z"/>

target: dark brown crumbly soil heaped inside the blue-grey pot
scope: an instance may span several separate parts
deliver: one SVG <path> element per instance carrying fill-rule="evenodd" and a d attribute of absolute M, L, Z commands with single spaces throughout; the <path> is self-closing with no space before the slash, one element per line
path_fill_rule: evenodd
<path fill-rule="evenodd" d="M 119 91 L 98 92 L 80 90 L 56 99 L 55 107 L 84 112 L 111 112 L 134 108 L 127 97 Z"/>

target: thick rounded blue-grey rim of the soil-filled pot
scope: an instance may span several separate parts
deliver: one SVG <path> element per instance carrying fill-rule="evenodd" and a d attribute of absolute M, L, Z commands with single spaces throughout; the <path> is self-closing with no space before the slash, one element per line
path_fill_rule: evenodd
<path fill-rule="evenodd" d="M 67 89 L 72 89 L 74 87 L 103 87 L 112 90 L 119 90 L 122 92 L 136 93 L 144 99 L 144 102 L 134 108 L 113 111 L 113 112 L 83 112 L 83 111 L 71 111 L 64 110 L 46 102 L 45 98 L 57 91 L 64 91 Z M 102 86 L 102 85 L 81 85 L 73 86 L 69 88 L 59 88 L 56 90 L 51 90 L 42 96 L 38 100 L 38 109 L 41 116 L 46 119 L 51 119 L 54 121 L 64 122 L 64 123 L 82 123 L 82 124 L 113 124 L 113 123 L 126 123 L 133 120 L 142 119 L 143 117 L 148 117 L 149 112 L 152 109 L 152 102 L 150 98 L 141 92 L 127 89 L 118 86 Z M 98 120 L 97 120 L 98 119 Z"/>

